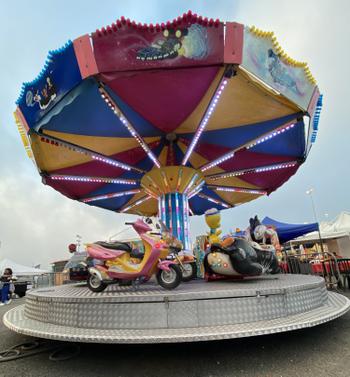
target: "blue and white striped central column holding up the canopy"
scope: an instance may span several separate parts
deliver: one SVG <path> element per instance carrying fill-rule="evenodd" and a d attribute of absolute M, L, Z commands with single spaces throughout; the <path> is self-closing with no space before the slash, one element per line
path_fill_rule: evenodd
<path fill-rule="evenodd" d="M 158 198 L 158 216 L 186 250 L 190 249 L 188 198 L 186 194 L 170 192 Z"/>

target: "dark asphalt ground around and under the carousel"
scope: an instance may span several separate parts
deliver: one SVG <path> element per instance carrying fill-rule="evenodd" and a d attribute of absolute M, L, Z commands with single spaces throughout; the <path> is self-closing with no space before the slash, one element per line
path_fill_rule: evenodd
<path fill-rule="evenodd" d="M 345 295 L 350 297 L 349 291 Z M 14 300 L 0 307 L 0 316 L 23 302 Z M 8 330 L 1 322 L 0 351 L 32 339 Z M 0 363 L 0 376 L 349 377 L 349 343 L 350 312 L 317 327 L 252 338 L 156 345 L 80 344 L 80 353 L 66 361 L 51 361 L 45 352 Z"/>

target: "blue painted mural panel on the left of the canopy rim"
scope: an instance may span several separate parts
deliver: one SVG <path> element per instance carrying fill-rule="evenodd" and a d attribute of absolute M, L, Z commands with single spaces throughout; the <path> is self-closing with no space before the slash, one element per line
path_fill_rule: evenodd
<path fill-rule="evenodd" d="M 33 128 L 49 111 L 82 81 L 73 43 L 50 51 L 36 79 L 23 83 L 17 105 L 28 126 Z"/>

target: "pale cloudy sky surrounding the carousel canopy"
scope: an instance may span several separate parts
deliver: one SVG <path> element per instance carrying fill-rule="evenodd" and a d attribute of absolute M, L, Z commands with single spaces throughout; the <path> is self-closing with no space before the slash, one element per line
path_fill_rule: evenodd
<path fill-rule="evenodd" d="M 12 113 L 22 82 L 43 67 L 47 52 L 111 24 L 121 16 L 138 22 L 164 22 L 191 9 L 203 16 L 274 31 L 284 50 L 307 61 L 324 107 L 320 131 L 306 163 L 282 188 L 236 209 L 222 212 L 223 231 L 246 227 L 255 214 L 285 222 L 334 218 L 350 210 L 349 61 L 350 2 L 347 0 L 144 0 L 12 1 L 0 13 L 0 258 L 23 264 L 68 257 L 76 234 L 83 242 L 106 239 L 122 229 L 125 215 L 74 202 L 41 183 L 27 158 Z M 192 236 L 204 233 L 203 217 L 191 220 Z"/>

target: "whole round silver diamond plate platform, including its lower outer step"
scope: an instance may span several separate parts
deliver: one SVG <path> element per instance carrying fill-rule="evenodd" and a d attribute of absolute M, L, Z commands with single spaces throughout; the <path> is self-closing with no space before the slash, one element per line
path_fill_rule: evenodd
<path fill-rule="evenodd" d="M 312 327 L 350 309 L 321 277 L 270 275 L 241 281 L 195 280 L 166 291 L 147 283 L 84 284 L 32 290 L 4 324 L 39 338 L 92 343 L 177 343 L 241 338 Z"/>

